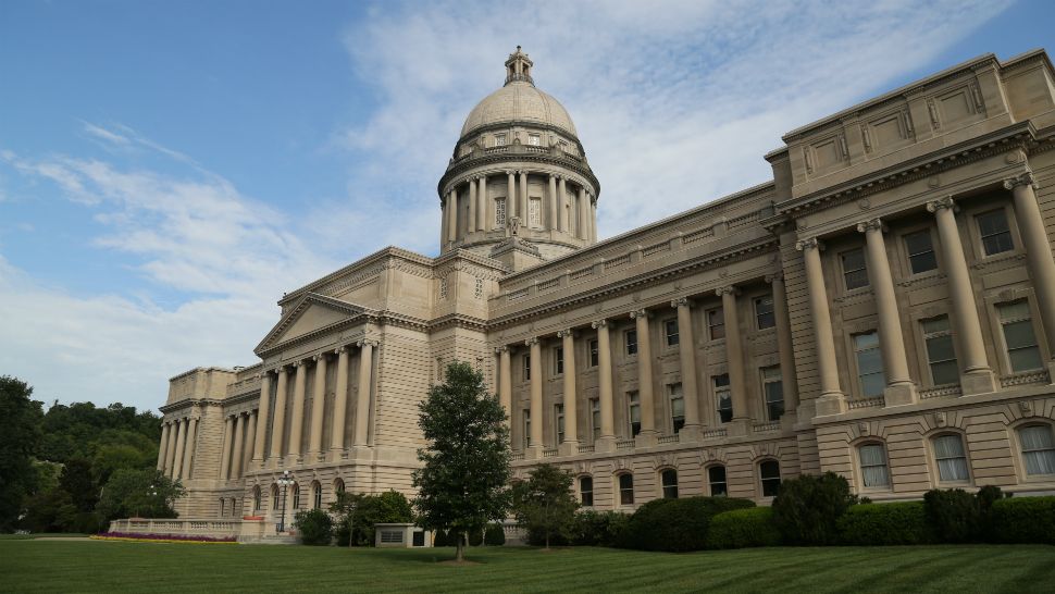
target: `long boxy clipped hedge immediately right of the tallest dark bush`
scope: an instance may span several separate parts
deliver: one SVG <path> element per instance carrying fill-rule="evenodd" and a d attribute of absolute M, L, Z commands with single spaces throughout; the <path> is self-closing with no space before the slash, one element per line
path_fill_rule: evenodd
<path fill-rule="evenodd" d="M 922 502 L 855 505 L 836 522 L 847 545 L 915 545 L 935 542 Z"/>

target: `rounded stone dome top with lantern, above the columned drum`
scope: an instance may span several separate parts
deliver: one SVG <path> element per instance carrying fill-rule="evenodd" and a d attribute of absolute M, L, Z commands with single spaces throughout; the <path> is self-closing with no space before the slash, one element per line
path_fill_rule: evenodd
<path fill-rule="evenodd" d="M 568 110 L 548 94 L 535 88 L 531 78 L 531 60 L 528 54 L 517 51 L 506 61 L 506 86 L 492 92 L 476 104 L 466 117 L 461 136 L 470 132 L 500 122 L 537 122 L 556 126 L 578 138 L 575 124 Z"/>

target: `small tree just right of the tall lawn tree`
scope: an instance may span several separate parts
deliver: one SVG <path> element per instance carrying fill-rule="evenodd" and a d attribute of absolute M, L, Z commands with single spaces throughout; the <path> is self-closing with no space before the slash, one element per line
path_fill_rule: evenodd
<path fill-rule="evenodd" d="M 513 485 L 513 513 L 528 532 L 542 533 L 549 548 L 550 536 L 571 537 L 579 503 L 571 492 L 572 477 L 554 465 L 535 467 L 526 481 Z"/>

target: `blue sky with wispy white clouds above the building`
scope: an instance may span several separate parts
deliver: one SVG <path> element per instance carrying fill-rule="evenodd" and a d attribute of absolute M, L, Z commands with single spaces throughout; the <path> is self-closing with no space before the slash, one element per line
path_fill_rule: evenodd
<path fill-rule="evenodd" d="M 1055 2 L 0 0 L 0 375 L 157 409 L 249 366 L 277 299 L 438 251 L 443 175 L 521 45 L 600 238 L 769 180 L 781 135 L 995 53 Z"/>

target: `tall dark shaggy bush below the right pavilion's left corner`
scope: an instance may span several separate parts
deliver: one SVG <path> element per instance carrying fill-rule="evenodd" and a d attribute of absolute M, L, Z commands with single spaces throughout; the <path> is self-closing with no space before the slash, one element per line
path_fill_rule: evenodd
<path fill-rule="evenodd" d="M 845 478 L 834 472 L 805 474 L 781 483 L 773 499 L 773 521 L 784 543 L 835 544 L 835 522 L 856 503 Z"/>

